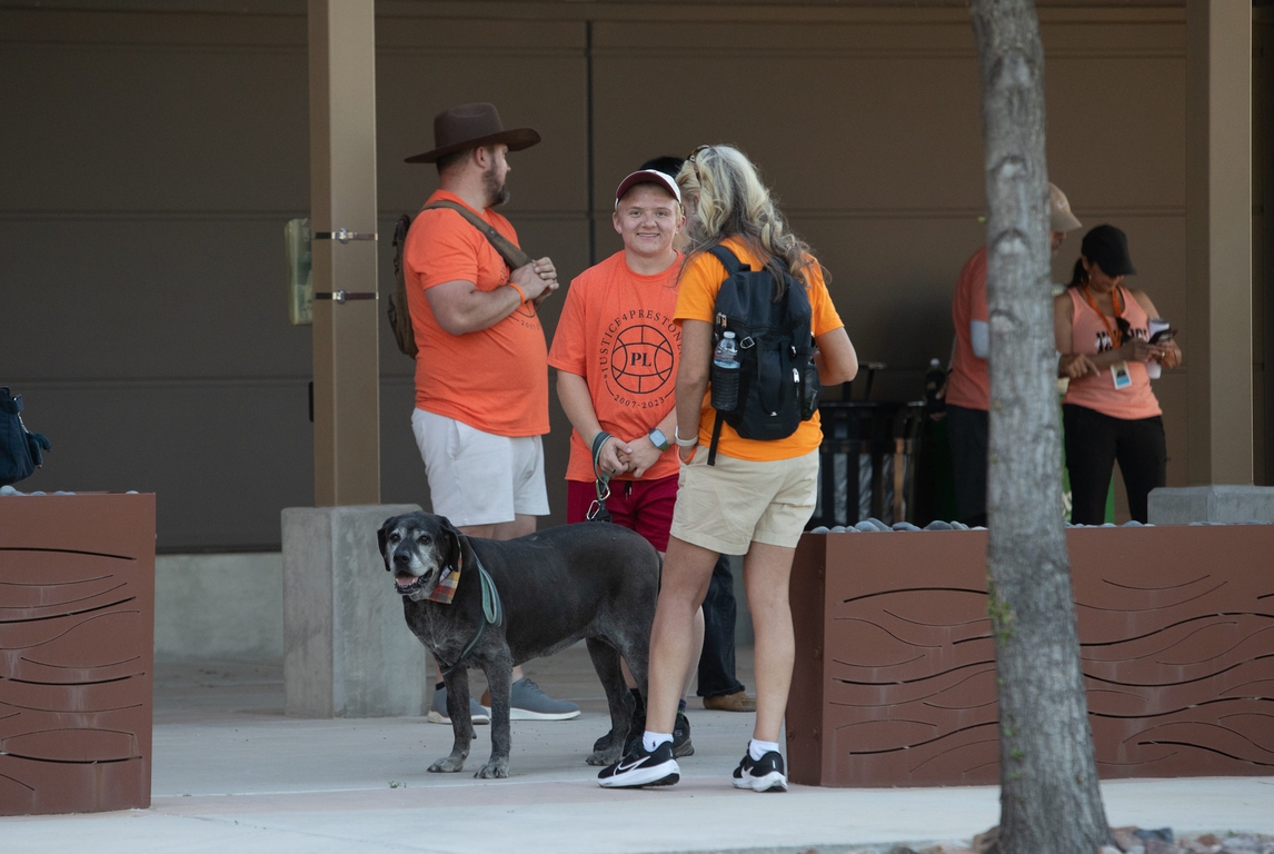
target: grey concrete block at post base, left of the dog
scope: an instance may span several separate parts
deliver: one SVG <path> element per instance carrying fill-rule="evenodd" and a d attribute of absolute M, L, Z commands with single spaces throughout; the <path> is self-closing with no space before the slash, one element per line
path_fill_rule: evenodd
<path fill-rule="evenodd" d="M 428 656 L 403 621 L 376 544 L 417 505 L 283 511 L 284 711 L 301 718 L 426 711 Z"/>

